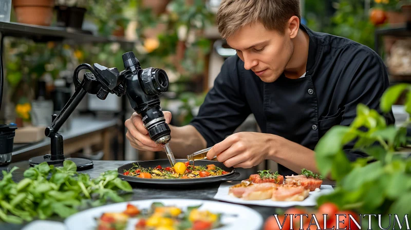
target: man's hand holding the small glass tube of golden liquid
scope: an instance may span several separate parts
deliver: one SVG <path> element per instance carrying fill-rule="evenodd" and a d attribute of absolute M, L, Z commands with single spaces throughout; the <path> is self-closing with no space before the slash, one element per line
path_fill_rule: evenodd
<path fill-rule="evenodd" d="M 237 132 L 208 152 L 209 160 L 217 156 L 227 167 L 251 168 L 260 164 L 273 150 L 275 136 L 259 132 Z"/>

